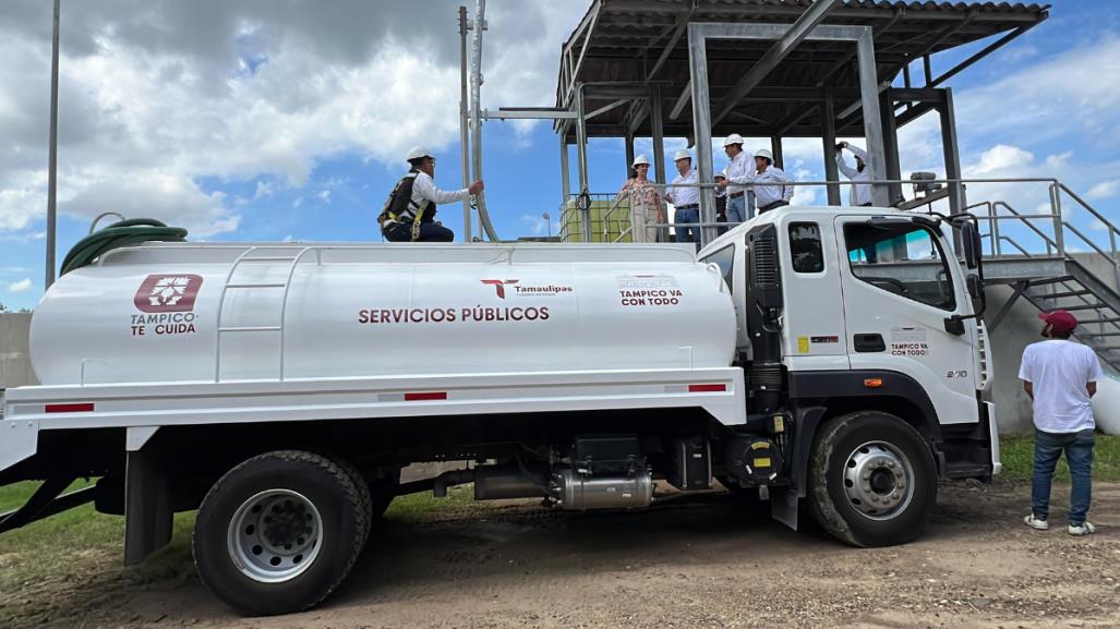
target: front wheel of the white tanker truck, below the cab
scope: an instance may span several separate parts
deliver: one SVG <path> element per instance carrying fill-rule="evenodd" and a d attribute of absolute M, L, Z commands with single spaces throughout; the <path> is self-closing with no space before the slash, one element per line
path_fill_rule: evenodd
<path fill-rule="evenodd" d="M 809 464 L 813 518 L 853 546 L 914 539 L 937 500 L 930 448 L 913 426 L 888 413 L 861 411 L 829 421 L 816 433 Z"/>

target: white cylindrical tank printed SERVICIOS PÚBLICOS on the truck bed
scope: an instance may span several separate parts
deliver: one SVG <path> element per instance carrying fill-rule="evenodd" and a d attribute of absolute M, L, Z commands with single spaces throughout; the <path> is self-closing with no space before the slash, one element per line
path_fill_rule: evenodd
<path fill-rule="evenodd" d="M 60 278 L 45 385 L 726 367 L 731 295 L 672 245 L 162 243 Z"/>

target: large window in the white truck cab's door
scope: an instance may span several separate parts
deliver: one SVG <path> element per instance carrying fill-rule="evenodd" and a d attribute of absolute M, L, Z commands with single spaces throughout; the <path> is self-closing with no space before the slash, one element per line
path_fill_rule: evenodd
<path fill-rule="evenodd" d="M 843 227 L 851 274 L 887 292 L 954 310 L 953 284 L 936 236 L 915 223 Z"/>

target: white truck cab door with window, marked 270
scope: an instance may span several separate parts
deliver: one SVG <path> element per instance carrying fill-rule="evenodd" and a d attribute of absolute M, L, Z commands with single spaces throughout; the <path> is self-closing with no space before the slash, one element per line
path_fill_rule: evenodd
<path fill-rule="evenodd" d="M 904 217 L 836 218 L 844 319 L 853 370 L 905 374 L 930 395 L 941 423 L 979 421 L 976 323 L 963 278 L 941 234 Z"/>

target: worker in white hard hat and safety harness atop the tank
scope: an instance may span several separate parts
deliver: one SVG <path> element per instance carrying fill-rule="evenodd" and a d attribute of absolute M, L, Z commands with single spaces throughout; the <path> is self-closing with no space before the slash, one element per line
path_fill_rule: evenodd
<path fill-rule="evenodd" d="M 436 158 L 419 147 L 404 156 L 411 167 L 396 182 L 377 216 L 381 235 L 393 243 L 440 242 L 455 240 L 455 233 L 436 220 L 436 205 L 464 201 L 483 190 L 482 179 L 469 188 L 449 193 L 436 187 Z"/>

